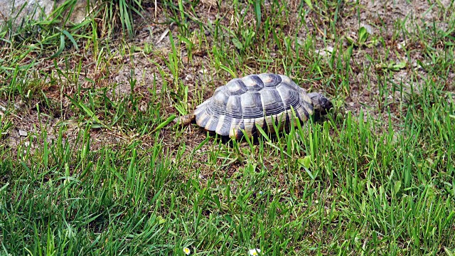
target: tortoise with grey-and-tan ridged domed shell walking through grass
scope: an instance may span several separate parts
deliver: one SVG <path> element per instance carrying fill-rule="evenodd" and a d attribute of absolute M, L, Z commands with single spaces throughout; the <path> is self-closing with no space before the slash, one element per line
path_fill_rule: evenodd
<path fill-rule="evenodd" d="M 213 96 L 196 107 L 191 114 L 175 119 L 187 125 L 196 120 L 198 126 L 222 137 L 241 139 L 257 136 L 257 125 L 274 133 L 277 127 L 289 127 L 291 117 L 305 122 L 316 119 L 333 107 L 320 93 L 306 93 L 286 75 L 262 73 L 230 80 L 218 87 Z M 292 114 L 294 110 L 295 115 Z M 294 125 L 296 122 L 294 122 Z"/>

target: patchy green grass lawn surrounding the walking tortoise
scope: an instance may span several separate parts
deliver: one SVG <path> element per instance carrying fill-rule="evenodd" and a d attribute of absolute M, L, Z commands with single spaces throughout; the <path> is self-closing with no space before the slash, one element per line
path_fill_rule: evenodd
<path fill-rule="evenodd" d="M 453 255 L 453 3 L 365 36 L 343 26 L 360 4 L 268 2 L 0 25 L 0 255 Z M 262 72 L 335 110 L 257 142 L 168 124 Z"/>

